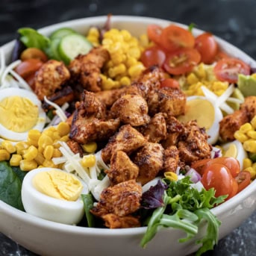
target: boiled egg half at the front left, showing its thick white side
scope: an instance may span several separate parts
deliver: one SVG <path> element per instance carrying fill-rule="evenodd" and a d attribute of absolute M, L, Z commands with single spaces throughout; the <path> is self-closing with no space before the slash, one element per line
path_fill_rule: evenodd
<path fill-rule="evenodd" d="M 22 183 L 22 203 L 27 213 L 68 225 L 78 224 L 84 216 L 82 193 L 88 193 L 87 185 L 61 169 L 31 170 Z"/>

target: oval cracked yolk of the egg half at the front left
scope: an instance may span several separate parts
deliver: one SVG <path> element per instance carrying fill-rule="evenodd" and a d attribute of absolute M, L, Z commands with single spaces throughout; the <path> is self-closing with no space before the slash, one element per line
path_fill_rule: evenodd
<path fill-rule="evenodd" d="M 57 170 L 39 172 L 32 182 L 40 193 L 66 201 L 76 201 L 83 189 L 83 185 L 74 175 Z"/>

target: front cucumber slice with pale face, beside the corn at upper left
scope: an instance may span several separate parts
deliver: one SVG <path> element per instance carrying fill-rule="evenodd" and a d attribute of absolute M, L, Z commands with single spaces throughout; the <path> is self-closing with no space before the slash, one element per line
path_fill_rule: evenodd
<path fill-rule="evenodd" d="M 69 34 L 60 40 L 58 51 L 61 59 L 69 64 L 78 54 L 87 54 L 93 45 L 81 34 Z"/>

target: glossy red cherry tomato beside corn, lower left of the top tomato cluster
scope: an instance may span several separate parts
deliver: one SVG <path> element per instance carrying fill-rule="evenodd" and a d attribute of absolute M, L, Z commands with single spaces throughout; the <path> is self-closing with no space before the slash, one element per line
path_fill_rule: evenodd
<path fill-rule="evenodd" d="M 157 46 L 152 46 L 149 49 L 143 51 L 143 54 L 140 57 L 144 66 L 162 66 L 164 60 L 166 59 L 166 54 Z"/>

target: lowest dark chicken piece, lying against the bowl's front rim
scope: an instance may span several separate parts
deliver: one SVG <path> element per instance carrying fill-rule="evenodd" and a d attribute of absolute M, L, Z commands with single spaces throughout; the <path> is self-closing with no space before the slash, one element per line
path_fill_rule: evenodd
<path fill-rule="evenodd" d="M 137 228 L 140 227 L 140 220 L 135 216 L 117 216 L 113 213 L 108 213 L 102 216 L 104 225 L 107 228 Z"/>

